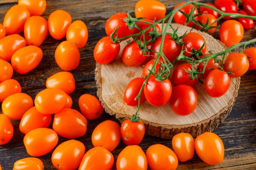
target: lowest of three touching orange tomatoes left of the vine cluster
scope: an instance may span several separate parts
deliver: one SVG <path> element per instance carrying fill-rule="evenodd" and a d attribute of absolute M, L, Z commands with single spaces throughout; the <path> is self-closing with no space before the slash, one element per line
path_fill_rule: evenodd
<path fill-rule="evenodd" d="M 76 69 L 80 62 L 80 53 L 74 42 L 63 41 L 55 51 L 55 61 L 64 71 Z"/>

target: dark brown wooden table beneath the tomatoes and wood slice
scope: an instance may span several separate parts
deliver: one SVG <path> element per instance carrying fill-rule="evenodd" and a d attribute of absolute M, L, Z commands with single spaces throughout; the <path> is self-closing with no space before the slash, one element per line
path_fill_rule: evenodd
<path fill-rule="evenodd" d="M 185 0 L 184 0 L 185 1 Z M 212 2 L 213 0 L 197 0 L 198 2 Z M 93 59 L 93 49 L 95 44 L 103 36 L 106 36 L 104 27 L 106 20 L 118 12 L 127 12 L 134 10 L 137 0 L 47 0 L 47 9 L 43 13 L 44 18 L 56 9 L 64 9 L 72 15 L 72 20 L 83 20 L 88 26 L 89 39 L 86 46 L 80 49 L 81 61 L 79 67 L 71 71 L 76 79 L 76 90 L 71 94 L 73 99 L 73 108 L 79 110 L 78 99 L 84 93 L 96 96 L 97 88 L 94 82 L 95 61 Z M 161 0 L 170 12 L 175 4 L 181 0 Z M 0 0 L 0 22 L 2 23 L 5 13 L 8 9 L 17 4 L 17 0 Z M 245 31 L 243 41 L 255 38 L 256 30 Z M 218 38 L 218 33 L 215 34 Z M 61 71 L 54 60 L 54 51 L 58 44 L 63 40 L 54 40 L 48 36 L 45 42 L 40 46 L 43 50 L 43 60 L 36 68 L 26 75 L 13 74 L 13 78 L 20 82 L 22 92 L 29 94 L 33 99 L 36 94 L 45 88 L 46 79 Z M 0 110 L 1 113 L 2 110 Z M 78 138 L 85 144 L 86 150 L 93 147 L 91 135 L 93 129 L 104 120 L 114 120 L 115 117 L 103 113 L 103 115 L 93 121 L 88 121 L 88 131 L 85 136 Z M 19 130 L 19 121 L 12 121 L 14 135 L 11 141 L 0 146 L 0 164 L 3 170 L 11 170 L 13 163 L 18 159 L 29 157 L 23 144 L 24 135 Z M 51 128 L 51 125 L 50 125 Z M 220 136 L 225 146 L 225 157 L 222 163 L 209 166 L 202 162 L 195 154 L 193 159 L 186 163 L 179 163 L 178 169 L 256 169 L 256 73 L 248 71 L 241 78 L 240 90 L 233 110 L 214 132 Z M 66 141 L 59 137 L 58 144 Z M 145 136 L 141 148 L 146 152 L 147 148 L 153 144 L 163 144 L 171 148 L 171 140 L 164 140 L 157 137 Z M 119 146 L 112 152 L 117 159 L 119 152 L 125 147 L 121 141 Z M 52 152 L 43 157 L 39 157 L 45 170 L 54 170 L 51 163 Z M 115 164 L 112 168 L 115 168 Z"/>

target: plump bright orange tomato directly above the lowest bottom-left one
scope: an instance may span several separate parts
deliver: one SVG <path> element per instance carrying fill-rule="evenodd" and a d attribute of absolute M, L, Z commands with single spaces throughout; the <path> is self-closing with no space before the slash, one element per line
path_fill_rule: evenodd
<path fill-rule="evenodd" d="M 49 128 L 37 128 L 28 132 L 23 139 L 27 153 L 40 157 L 51 152 L 58 144 L 58 135 Z"/>

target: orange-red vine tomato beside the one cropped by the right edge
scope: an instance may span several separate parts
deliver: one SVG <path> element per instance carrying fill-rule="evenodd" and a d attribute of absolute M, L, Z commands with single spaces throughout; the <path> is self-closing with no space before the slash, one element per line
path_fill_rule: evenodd
<path fill-rule="evenodd" d="M 224 71 L 231 71 L 229 77 L 241 77 L 249 68 L 247 56 L 243 53 L 230 53 L 224 62 Z"/>

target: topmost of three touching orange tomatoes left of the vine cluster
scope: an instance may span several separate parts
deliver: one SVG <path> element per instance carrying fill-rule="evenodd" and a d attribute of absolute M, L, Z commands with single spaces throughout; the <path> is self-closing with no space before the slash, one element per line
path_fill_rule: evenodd
<path fill-rule="evenodd" d="M 61 40 L 72 22 L 71 15 L 64 10 L 53 11 L 48 18 L 49 33 L 55 40 Z"/>

